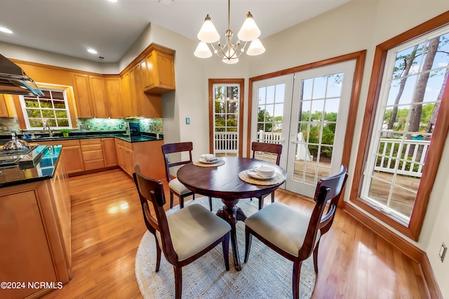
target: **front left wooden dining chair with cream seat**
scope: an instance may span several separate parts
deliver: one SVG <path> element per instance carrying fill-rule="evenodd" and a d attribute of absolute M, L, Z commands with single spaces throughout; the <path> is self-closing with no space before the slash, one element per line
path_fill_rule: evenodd
<path fill-rule="evenodd" d="M 156 241 L 156 272 L 161 264 L 161 251 L 175 271 L 175 298 L 182 296 L 182 267 L 222 244 L 225 268 L 229 270 L 228 222 L 208 211 L 201 204 L 190 204 L 166 215 L 163 205 L 166 197 L 160 180 L 146 178 L 140 173 L 139 165 L 133 173 L 143 218 L 149 232 Z M 156 218 L 150 212 L 150 208 Z"/>

